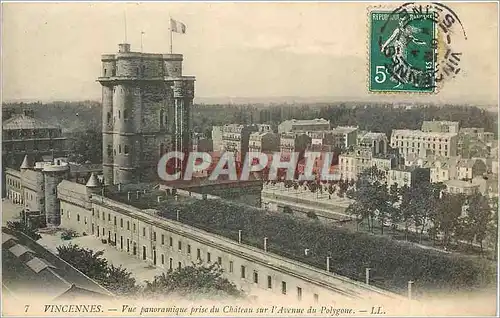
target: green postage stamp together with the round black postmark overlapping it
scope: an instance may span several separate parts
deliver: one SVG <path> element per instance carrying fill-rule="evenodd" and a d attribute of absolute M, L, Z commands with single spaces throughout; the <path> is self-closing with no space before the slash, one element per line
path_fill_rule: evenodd
<path fill-rule="evenodd" d="M 459 18 L 448 7 L 407 3 L 369 12 L 370 92 L 435 93 L 460 72 L 461 52 L 451 48 Z"/>

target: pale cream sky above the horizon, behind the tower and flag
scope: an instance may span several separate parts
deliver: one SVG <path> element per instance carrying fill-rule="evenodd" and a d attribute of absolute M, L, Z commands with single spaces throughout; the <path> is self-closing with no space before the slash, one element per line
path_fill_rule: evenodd
<path fill-rule="evenodd" d="M 367 89 L 368 10 L 376 3 L 3 3 L 2 99 L 100 100 L 100 56 L 125 40 L 168 53 L 169 17 L 184 75 L 197 97 L 332 97 L 339 100 L 498 103 L 498 6 L 448 3 L 467 40 L 461 73 L 433 95 Z M 395 4 L 387 4 L 384 7 Z M 380 7 L 380 5 L 379 5 Z M 126 17 L 126 19 L 125 19 Z M 126 32 L 125 32 L 126 20 Z"/>

